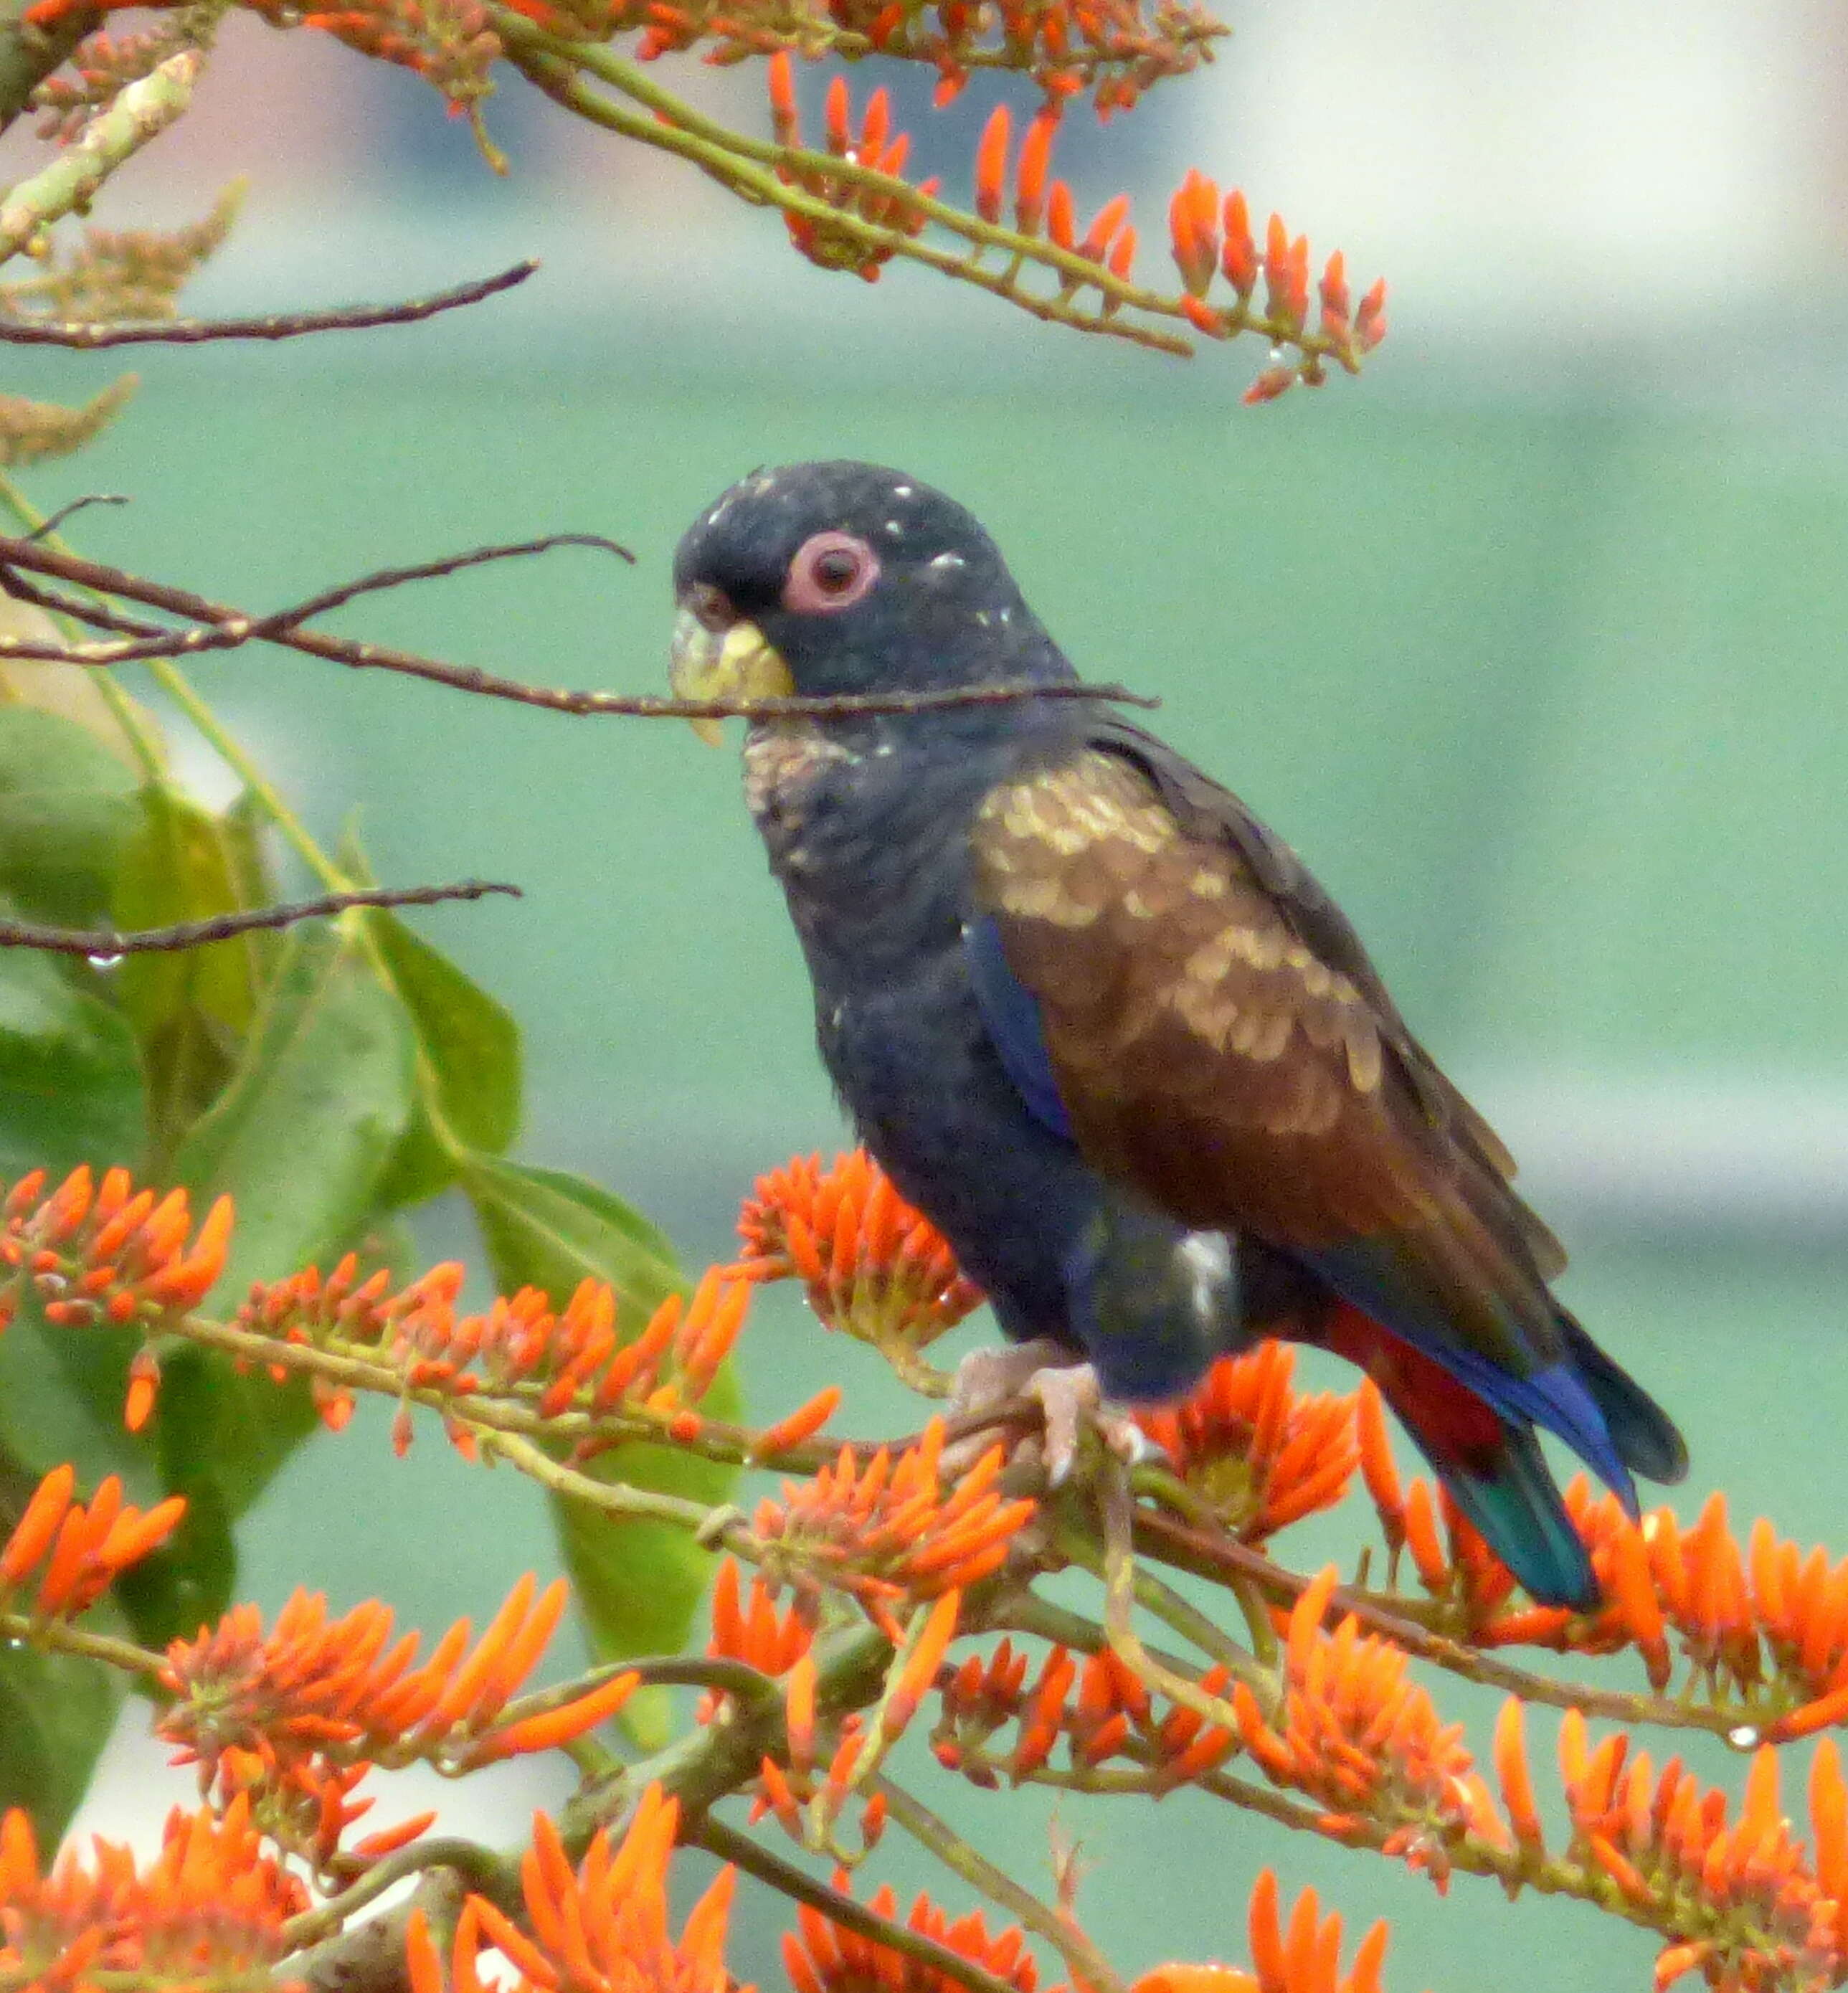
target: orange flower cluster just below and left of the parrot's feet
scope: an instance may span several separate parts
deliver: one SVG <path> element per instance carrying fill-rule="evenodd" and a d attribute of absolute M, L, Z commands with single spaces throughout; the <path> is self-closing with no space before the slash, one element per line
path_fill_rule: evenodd
<path fill-rule="evenodd" d="M 752 1519 L 766 1578 L 835 1586 L 889 1624 L 889 1600 L 935 1598 L 991 1576 L 1035 1505 L 995 1489 L 1003 1447 L 991 1447 L 949 1491 L 941 1455 L 943 1421 L 931 1419 L 897 1457 L 881 1447 L 857 1463 L 841 1447 L 813 1481 L 785 1481 L 783 1501 L 762 1501 Z"/>

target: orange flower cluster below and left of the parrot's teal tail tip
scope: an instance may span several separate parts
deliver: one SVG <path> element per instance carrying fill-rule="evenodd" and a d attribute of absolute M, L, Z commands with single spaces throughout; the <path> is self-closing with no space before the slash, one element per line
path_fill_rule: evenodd
<path fill-rule="evenodd" d="M 1334 1568 L 1290 1612 L 1284 1706 L 1266 1718 L 1238 1682 L 1232 1706 L 1246 1750 L 1278 1786 L 1330 1808 L 1324 1830 L 1342 1838 L 1360 1822 L 1389 1822 L 1386 1853 L 1447 1875 L 1443 1844 L 1475 1832 L 1503 1840 L 1501 1820 L 1463 1746 L 1463 1726 L 1443 1724 L 1401 1648 L 1344 1618 L 1322 1630 Z"/>

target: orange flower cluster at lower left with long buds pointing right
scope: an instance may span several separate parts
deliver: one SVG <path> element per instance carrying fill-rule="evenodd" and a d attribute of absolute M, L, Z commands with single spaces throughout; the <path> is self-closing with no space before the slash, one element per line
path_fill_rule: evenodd
<path fill-rule="evenodd" d="M 423 1666 L 415 1666 L 419 1636 L 393 1642 L 391 1608 L 377 1598 L 329 1620 L 319 1592 L 295 1592 L 267 1636 L 255 1606 L 233 1606 L 217 1626 L 167 1648 L 161 1684 L 175 1702 L 157 1730 L 181 1748 L 175 1762 L 199 1766 L 205 1790 L 221 1800 L 259 1796 L 265 1822 L 313 1844 L 325 1861 L 369 1804 L 345 1804 L 369 1766 L 423 1758 L 466 1770 L 550 1750 L 622 1706 L 632 1674 L 500 1722 L 564 1602 L 562 1578 L 534 1598 L 526 1574 L 472 1652 L 472 1628 L 457 1620 Z"/>

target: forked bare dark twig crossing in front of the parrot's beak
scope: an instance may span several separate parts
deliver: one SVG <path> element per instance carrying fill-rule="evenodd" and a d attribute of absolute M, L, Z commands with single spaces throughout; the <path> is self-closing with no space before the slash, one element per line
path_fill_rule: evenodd
<path fill-rule="evenodd" d="M 484 560 L 542 554 L 552 546 L 604 546 L 630 558 L 612 540 L 598 540 L 590 534 L 554 534 L 544 540 L 522 540 L 510 546 L 484 546 L 415 568 L 385 568 L 313 596 L 309 602 L 273 610 L 267 616 L 251 616 L 245 610 L 197 596 L 189 588 L 150 582 L 98 560 L 84 560 L 78 554 L 40 546 L 34 540 L 0 534 L 0 588 L 20 602 L 56 610 L 96 630 L 118 632 L 126 638 L 122 644 L 84 646 L 30 644 L 18 638 L 0 638 L 0 658 L 36 658 L 58 664 L 110 668 L 140 664 L 150 658 L 191 658 L 201 652 L 237 650 L 241 644 L 261 640 L 305 652 L 311 658 L 325 658 L 329 664 L 345 664 L 357 672 L 397 672 L 403 678 L 423 678 L 437 686 L 449 686 L 455 692 L 472 692 L 490 700 L 512 700 L 520 706 L 540 706 L 556 713 L 624 713 L 636 719 L 843 719 L 855 713 L 923 713 L 957 706 L 1011 706 L 1023 700 L 1102 700 L 1112 706 L 1160 706 L 1160 700 L 1116 684 L 995 684 L 957 686 L 943 692 L 841 694 L 833 698 L 787 700 L 670 700 L 646 692 L 570 692 L 528 686 L 522 680 L 500 678 L 494 672 L 482 672 L 468 664 L 447 664 L 439 658 L 421 658 L 415 652 L 391 650 L 383 644 L 361 644 L 353 638 L 299 628 L 303 618 L 321 614 L 359 594 L 451 574 L 457 568 L 476 566 Z M 18 570 L 48 574 L 76 588 L 90 588 L 104 596 L 140 602 L 167 616 L 181 616 L 189 628 L 161 630 L 159 626 L 120 616 L 98 604 L 80 602 L 74 596 L 38 590 L 30 582 L 22 582 Z"/>

